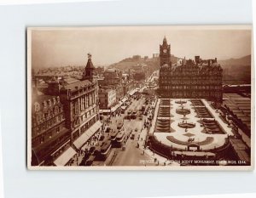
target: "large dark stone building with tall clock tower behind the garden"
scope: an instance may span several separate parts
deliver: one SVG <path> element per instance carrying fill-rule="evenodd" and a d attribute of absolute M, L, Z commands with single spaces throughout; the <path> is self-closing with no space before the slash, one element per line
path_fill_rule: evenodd
<path fill-rule="evenodd" d="M 172 65 L 171 46 L 166 37 L 160 45 L 159 94 L 162 98 L 209 99 L 222 102 L 223 70 L 217 59 L 183 59 Z"/>

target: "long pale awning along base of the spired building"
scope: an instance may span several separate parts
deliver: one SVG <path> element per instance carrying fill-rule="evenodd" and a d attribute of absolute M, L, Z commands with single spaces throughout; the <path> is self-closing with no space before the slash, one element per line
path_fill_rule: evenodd
<path fill-rule="evenodd" d="M 82 145 L 88 141 L 88 139 L 91 138 L 91 136 L 93 136 L 96 131 L 102 127 L 102 122 L 97 121 L 96 123 L 94 123 L 89 129 L 87 129 L 78 139 L 76 139 L 73 144 L 75 145 L 75 147 L 77 149 L 80 149 L 80 147 L 82 147 Z"/>

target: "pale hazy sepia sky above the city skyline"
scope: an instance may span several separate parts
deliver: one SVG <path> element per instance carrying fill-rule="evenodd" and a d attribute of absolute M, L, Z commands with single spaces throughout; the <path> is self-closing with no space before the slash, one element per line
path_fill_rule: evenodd
<path fill-rule="evenodd" d="M 179 58 L 241 58 L 251 54 L 251 31 L 230 26 L 113 26 L 35 28 L 31 34 L 33 68 L 111 65 L 139 54 L 152 57 L 166 36 L 171 54 Z M 29 53 L 29 52 L 28 52 Z"/>

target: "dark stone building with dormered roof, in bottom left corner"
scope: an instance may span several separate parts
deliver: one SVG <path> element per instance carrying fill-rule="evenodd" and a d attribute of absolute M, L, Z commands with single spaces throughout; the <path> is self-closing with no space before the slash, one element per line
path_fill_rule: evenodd
<path fill-rule="evenodd" d="M 50 95 L 34 95 L 32 101 L 32 166 L 49 166 L 70 144 L 63 104 Z"/>

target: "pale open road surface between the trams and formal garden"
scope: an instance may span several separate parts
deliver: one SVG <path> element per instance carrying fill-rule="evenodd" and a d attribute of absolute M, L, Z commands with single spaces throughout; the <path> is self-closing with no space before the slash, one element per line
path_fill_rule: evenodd
<path fill-rule="evenodd" d="M 148 156 L 144 152 L 144 143 L 147 136 L 147 129 L 143 127 L 143 123 L 147 120 L 148 116 L 143 116 L 140 120 L 139 116 L 136 119 L 125 119 L 129 110 L 140 110 L 145 103 L 145 98 L 131 99 L 131 105 L 125 110 L 125 114 L 120 116 L 113 116 L 109 127 L 113 130 L 117 130 L 116 126 L 118 122 L 124 121 L 123 130 L 125 131 L 125 137 L 127 141 L 125 143 L 125 150 L 122 148 L 113 148 L 112 155 L 108 156 L 105 161 L 106 165 L 110 166 L 144 166 L 154 165 L 154 158 Z M 148 107 L 149 105 L 147 105 Z M 134 139 L 131 138 L 131 134 L 134 134 Z M 109 159 L 110 158 L 110 159 Z M 107 162 L 107 163 L 106 163 Z"/>

